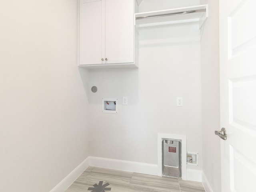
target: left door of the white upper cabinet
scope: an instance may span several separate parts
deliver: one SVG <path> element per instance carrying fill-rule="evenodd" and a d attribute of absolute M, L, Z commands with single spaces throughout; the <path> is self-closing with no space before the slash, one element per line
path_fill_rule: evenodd
<path fill-rule="evenodd" d="M 80 0 L 79 64 L 104 64 L 104 1 Z"/>

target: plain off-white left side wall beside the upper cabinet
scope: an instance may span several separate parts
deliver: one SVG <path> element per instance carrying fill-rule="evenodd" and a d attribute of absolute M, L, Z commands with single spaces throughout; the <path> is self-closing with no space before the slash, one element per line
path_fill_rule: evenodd
<path fill-rule="evenodd" d="M 50 191 L 88 156 L 77 10 L 77 0 L 0 0 L 2 192 Z"/>

